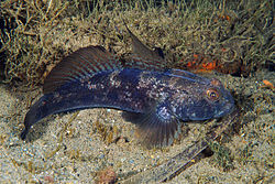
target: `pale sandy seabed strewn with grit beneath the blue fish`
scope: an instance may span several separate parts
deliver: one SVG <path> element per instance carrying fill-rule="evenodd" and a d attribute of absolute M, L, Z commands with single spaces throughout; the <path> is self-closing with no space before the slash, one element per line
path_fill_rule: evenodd
<path fill-rule="evenodd" d="M 242 113 L 238 125 L 218 140 L 230 155 L 223 162 L 231 166 L 224 170 L 215 153 L 167 183 L 274 182 L 274 89 L 261 87 L 263 79 L 274 84 L 274 72 L 262 71 L 246 78 L 215 77 L 233 91 Z M 22 141 L 19 134 L 24 115 L 41 90 L 22 93 L 1 85 L 0 91 L 0 183 L 98 183 L 105 170 L 120 178 L 165 162 L 201 139 L 207 127 L 187 123 L 180 141 L 148 150 L 136 141 L 134 125 L 125 122 L 121 111 L 87 109 L 73 121 L 75 113 L 51 116 L 33 126 Z"/>

